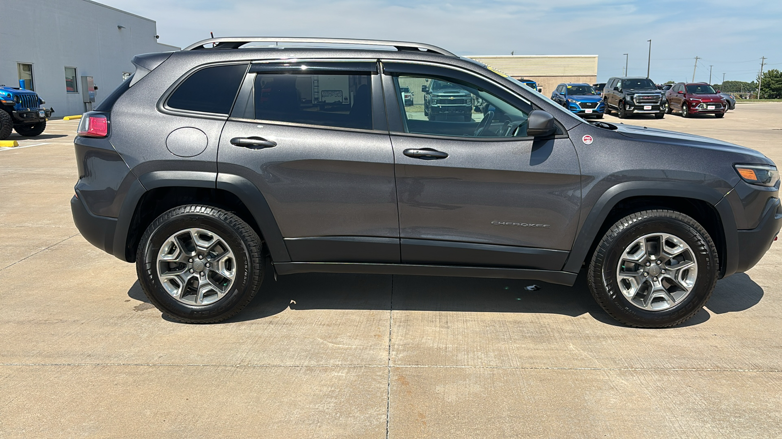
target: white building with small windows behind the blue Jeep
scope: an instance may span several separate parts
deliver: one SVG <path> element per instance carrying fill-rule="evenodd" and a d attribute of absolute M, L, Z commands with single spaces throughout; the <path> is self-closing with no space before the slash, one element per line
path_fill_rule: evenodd
<path fill-rule="evenodd" d="M 91 0 L 0 0 L 0 84 L 27 88 L 55 110 L 84 112 L 81 77 L 92 77 L 95 104 L 130 75 L 134 55 L 171 52 L 155 21 Z"/>

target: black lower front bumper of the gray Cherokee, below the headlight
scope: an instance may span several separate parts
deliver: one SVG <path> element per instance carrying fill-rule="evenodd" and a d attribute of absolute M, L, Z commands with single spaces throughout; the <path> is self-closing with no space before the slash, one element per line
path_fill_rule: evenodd
<path fill-rule="evenodd" d="M 779 198 L 769 198 L 762 219 L 751 230 L 738 230 L 737 273 L 744 273 L 755 266 L 768 252 L 774 237 L 782 227 L 782 203 Z"/>

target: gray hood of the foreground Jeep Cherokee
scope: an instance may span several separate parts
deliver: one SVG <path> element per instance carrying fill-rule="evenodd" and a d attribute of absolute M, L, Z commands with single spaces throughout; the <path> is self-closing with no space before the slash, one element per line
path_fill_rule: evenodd
<path fill-rule="evenodd" d="M 719 141 L 709 137 L 696 136 L 694 134 L 677 133 L 676 131 L 658 130 L 657 128 L 637 127 L 619 123 L 616 132 L 623 136 L 640 141 L 653 141 L 669 145 L 681 145 L 691 148 L 711 149 L 719 152 L 734 152 L 741 155 L 751 155 L 757 159 L 756 164 L 774 165 L 774 162 L 760 152 L 745 146 L 734 145 L 726 141 Z M 745 159 L 740 159 L 745 160 Z"/>

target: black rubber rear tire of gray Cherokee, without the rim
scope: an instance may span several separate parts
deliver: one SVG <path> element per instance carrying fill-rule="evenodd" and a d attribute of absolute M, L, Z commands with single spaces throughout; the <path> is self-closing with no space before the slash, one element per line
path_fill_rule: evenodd
<path fill-rule="evenodd" d="M 160 248 L 168 237 L 188 228 L 217 234 L 233 252 L 233 284 L 230 284 L 222 298 L 209 305 L 180 302 L 166 291 L 158 278 L 160 267 L 157 256 Z M 180 206 L 164 212 L 147 227 L 136 255 L 138 281 L 149 302 L 172 319 L 183 323 L 221 322 L 239 313 L 260 288 L 264 279 L 262 245 L 255 230 L 231 212 L 208 205 Z M 204 260 L 208 259 L 207 255 Z"/>

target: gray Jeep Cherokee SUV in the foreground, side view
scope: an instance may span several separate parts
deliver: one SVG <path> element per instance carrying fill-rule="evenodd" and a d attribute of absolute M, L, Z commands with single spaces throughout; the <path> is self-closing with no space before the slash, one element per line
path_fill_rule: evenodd
<path fill-rule="evenodd" d="M 133 63 L 81 120 L 71 208 L 182 322 L 234 316 L 267 269 L 565 285 L 583 271 L 615 319 L 669 327 L 780 230 L 759 152 L 586 123 L 432 45 L 215 38 Z M 485 105 L 463 120 L 404 105 L 404 87 L 434 81 Z"/>

